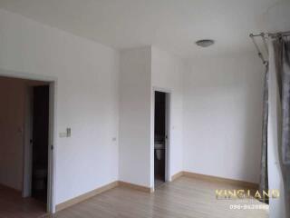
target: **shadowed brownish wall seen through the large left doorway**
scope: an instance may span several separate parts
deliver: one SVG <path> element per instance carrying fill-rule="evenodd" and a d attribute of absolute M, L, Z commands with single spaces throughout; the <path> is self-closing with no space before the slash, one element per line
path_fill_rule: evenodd
<path fill-rule="evenodd" d="M 0 184 L 22 191 L 24 94 L 21 80 L 0 78 Z"/>

